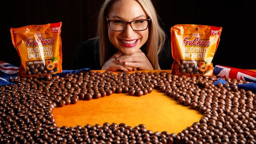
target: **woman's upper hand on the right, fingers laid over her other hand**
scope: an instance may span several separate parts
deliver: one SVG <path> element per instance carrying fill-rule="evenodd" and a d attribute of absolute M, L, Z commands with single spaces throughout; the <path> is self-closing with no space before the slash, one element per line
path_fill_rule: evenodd
<path fill-rule="evenodd" d="M 140 70 L 153 70 L 153 66 L 146 55 L 139 49 L 135 54 L 125 55 L 117 53 L 117 61 L 124 63 L 124 66 L 139 68 Z"/>

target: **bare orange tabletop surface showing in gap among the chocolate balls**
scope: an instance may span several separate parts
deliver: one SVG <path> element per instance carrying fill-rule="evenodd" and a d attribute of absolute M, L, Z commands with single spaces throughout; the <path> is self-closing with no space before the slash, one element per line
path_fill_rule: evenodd
<path fill-rule="evenodd" d="M 104 70 L 94 70 L 104 72 Z M 145 70 L 148 72 L 149 70 Z M 150 70 L 160 72 L 163 70 Z M 165 70 L 171 72 L 171 70 Z M 117 74 L 117 72 L 115 72 Z M 53 111 L 57 126 L 84 126 L 108 122 L 125 123 L 128 126 L 145 124 L 152 131 L 181 132 L 202 117 L 196 110 L 189 109 L 154 89 L 152 93 L 137 97 L 128 94 L 112 94 L 90 101 L 79 100 L 74 105 L 57 107 Z"/>

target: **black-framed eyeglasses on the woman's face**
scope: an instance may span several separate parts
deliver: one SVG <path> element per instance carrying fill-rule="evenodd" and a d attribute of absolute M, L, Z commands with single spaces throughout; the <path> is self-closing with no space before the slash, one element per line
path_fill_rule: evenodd
<path fill-rule="evenodd" d="M 108 20 L 109 28 L 113 31 L 124 31 L 127 27 L 127 24 L 130 24 L 132 30 L 135 31 L 144 31 L 148 28 L 148 25 L 151 22 L 151 19 L 143 19 L 143 20 L 133 20 L 127 22 L 125 20 Z"/>

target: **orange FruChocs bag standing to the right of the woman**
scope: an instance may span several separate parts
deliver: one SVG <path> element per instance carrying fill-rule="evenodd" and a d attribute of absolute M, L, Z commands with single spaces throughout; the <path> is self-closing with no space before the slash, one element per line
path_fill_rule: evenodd
<path fill-rule="evenodd" d="M 211 63 L 219 45 L 221 27 L 178 24 L 171 28 L 171 49 L 174 58 L 172 74 L 213 75 Z"/>

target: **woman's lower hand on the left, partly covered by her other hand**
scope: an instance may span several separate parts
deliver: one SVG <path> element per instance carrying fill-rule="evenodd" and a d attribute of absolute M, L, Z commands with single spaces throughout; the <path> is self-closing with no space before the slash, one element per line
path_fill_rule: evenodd
<path fill-rule="evenodd" d="M 120 63 L 117 60 L 116 55 L 123 55 L 122 52 L 117 52 L 116 54 L 114 54 L 112 57 L 110 57 L 108 59 L 108 61 L 106 61 L 106 63 L 102 66 L 102 70 L 123 70 L 123 71 L 132 71 L 132 70 L 137 70 L 135 68 L 133 68 L 132 66 L 126 66 L 124 65 L 124 63 Z"/>

